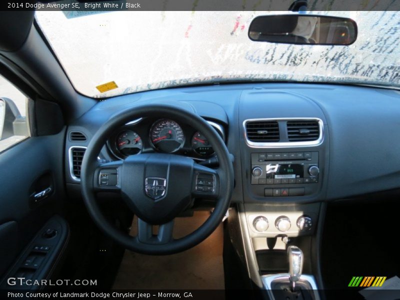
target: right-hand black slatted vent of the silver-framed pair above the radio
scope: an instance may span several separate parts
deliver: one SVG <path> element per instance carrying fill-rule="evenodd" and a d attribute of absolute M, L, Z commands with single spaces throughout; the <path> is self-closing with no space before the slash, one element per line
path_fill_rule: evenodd
<path fill-rule="evenodd" d="M 319 138 L 319 123 L 314 120 L 287 121 L 289 141 L 311 141 Z"/>

